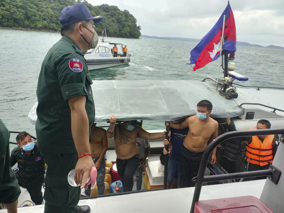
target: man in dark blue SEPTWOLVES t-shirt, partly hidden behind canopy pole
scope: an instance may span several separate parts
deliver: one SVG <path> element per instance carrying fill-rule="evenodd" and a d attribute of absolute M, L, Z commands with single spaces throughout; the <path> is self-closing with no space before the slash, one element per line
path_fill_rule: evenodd
<path fill-rule="evenodd" d="M 176 120 L 174 122 L 182 122 L 184 119 Z M 170 141 L 164 139 L 164 145 L 169 144 L 169 163 L 168 163 L 168 175 L 167 175 L 167 189 L 176 188 L 174 180 L 177 181 L 177 187 L 180 188 L 180 149 L 183 146 L 183 140 L 188 133 L 188 127 L 184 129 L 170 128 L 171 137 Z M 164 146 L 164 154 L 167 151 Z"/>

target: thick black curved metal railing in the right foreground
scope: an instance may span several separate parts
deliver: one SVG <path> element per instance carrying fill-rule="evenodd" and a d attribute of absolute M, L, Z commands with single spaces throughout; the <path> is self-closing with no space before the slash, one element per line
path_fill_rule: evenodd
<path fill-rule="evenodd" d="M 270 180 L 274 180 L 275 183 L 278 183 L 278 180 L 281 175 L 281 171 L 277 170 L 277 168 L 272 167 L 268 170 L 261 170 L 261 171 L 251 171 L 251 172 L 238 172 L 233 174 L 224 174 L 224 175 L 212 175 L 212 176 L 204 176 L 206 164 L 209 159 L 210 154 L 212 153 L 213 149 L 220 143 L 226 141 L 230 138 L 237 138 L 237 137 L 246 137 L 246 136 L 256 136 L 256 135 L 275 135 L 275 134 L 284 134 L 284 129 L 265 129 L 265 130 L 246 130 L 246 131 L 233 131 L 222 134 L 214 139 L 204 151 L 202 156 L 200 167 L 198 170 L 197 177 L 193 178 L 193 182 L 196 182 L 192 204 L 190 213 L 194 212 L 194 207 L 196 201 L 199 200 L 200 192 L 202 183 L 204 182 L 212 182 L 218 180 L 230 180 L 230 179 L 238 179 L 238 178 L 250 178 L 250 177 L 257 177 L 257 176 L 265 176 L 270 175 Z M 277 174 L 275 174 L 277 173 Z M 276 180 L 275 180 L 276 179 Z M 278 179 L 278 180 L 277 180 Z"/>

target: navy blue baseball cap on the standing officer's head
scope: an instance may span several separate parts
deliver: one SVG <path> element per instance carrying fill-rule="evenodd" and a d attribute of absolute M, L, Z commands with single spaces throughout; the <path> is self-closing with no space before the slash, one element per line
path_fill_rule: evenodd
<path fill-rule="evenodd" d="M 93 19 L 94 23 L 98 23 L 102 18 L 103 16 L 92 16 L 85 3 L 81 2 L 65 7 L 61 11 L 59 22 L 62 26 L 67 26 L 79 21 L 91 19 Z"/>

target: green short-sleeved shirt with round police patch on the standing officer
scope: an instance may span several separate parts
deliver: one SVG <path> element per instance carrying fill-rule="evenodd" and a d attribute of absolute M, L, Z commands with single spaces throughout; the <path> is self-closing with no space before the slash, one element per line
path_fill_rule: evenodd
<path fill-rule="evenodd" d="M 92 83 L 82 51 L 74 41 L 62 36 L 46 54 L 38 77 L 35 130 L 40 150 L 76 152 L 67 101 L 75 96 L 86 96 L 90 135 L 95 121 Z"/>

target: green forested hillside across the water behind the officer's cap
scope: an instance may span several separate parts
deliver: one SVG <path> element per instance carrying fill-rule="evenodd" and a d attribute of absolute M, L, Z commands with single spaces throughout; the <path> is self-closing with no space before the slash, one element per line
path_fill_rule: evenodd
<path fill-rule="evenodd" d="M 64 7 L 81 2 L 79 0 L 1 0 L 0 26 L 31 28 L 37 30 L 59 31 L 59 18 Z M 140 26 L 137 20 L 127 10 L 121 11 L 117 6 L 102 4 L 93 6 L 84 1 L 94 16 L 103 15 L 101 22 L 96 24 L 96 30 L 106 28 L 108 36 L 139 38 Z"/>

